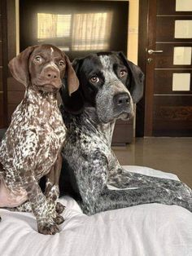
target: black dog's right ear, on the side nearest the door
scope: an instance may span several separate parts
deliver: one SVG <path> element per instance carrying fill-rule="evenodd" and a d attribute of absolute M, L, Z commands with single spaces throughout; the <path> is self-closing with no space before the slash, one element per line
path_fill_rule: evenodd
<path fill-rule="evenodd" d="M 123 52 L 118 52 L 118 55 L 120 60 L 122 60 L 124 65 L 129 69 L 131 79 L 129 80 L 127 87 L 130 91 L 130 94 L 132 95 L 133 103 L 137 103 L 140 99 L 142 99 L 143 95 L 144 74 L 137 65 L 127 60 Z"/>

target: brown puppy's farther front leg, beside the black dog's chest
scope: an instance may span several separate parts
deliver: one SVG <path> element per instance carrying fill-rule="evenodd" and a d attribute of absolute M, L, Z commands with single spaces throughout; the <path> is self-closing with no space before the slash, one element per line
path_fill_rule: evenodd
<path fill-rule="evenodd" d="M 50 214 L 55 219 L 55 223 L 63 223 L 64 218 L 60 214 L 63 213 L 64 206 L 57 202 L 59 198 L 59 176 L 62 166 L 62 157 L 59 153 L 54 166 L 52 166 L 50 172 L 46 174 L 46 191 L 45 195 L 50 207 Z"/>

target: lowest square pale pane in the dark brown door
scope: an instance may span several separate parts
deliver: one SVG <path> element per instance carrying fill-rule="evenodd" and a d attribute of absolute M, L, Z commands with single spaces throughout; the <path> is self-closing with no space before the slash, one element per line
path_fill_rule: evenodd
<path fill-rule="evenodd" d="M 190 90 L 190 73 L 173 73 L 172 90 Z"/>

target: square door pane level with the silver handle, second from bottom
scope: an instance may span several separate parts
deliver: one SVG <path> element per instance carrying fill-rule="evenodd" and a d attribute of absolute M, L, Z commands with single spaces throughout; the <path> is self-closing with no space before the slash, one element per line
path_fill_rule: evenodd
<path fill-rule="evenodd" d="M 173 65 L 190 65 L 191 47 L 174 47 Z"/>

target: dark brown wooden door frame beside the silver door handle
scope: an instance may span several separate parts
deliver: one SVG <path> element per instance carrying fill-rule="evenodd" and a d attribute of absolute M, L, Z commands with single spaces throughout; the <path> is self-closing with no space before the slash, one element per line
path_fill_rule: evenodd
<path fill-rule="evenodd" d="M 146 79 L 144 82 L 144 95 L 137 104 L 136 113 L 136 136 L 152 136 L 152 118 L 153 118 L 153 81 L 154 74 L 146 73 L 147 47 L 154 49 L 155 24 L 154 15 L 156 15 L 156 0 L 139 1 L 139 27 L 138 27 L 138 66 L 142 68 Z M 151 14 L 151 15 L 149 15 Z M 147 82 L 147 86 L 146 86 Z"/>

